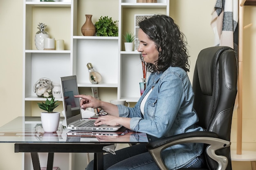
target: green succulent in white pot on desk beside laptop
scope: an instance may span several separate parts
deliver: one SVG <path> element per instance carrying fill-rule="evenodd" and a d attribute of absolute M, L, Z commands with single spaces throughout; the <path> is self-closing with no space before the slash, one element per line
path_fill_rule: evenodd
<path fill-rule="evenodd" d="M 54 112 L 59 103 L 58 100 L 55 100 L 53 97 L 51 100 L 46 99 L 45 103 L 37 103 L 38 107 L 46 112 L 41 112 L 41 121 L 43 130 L 45 132 L 56 132 L 58 130 L 58 125 L 60 122 L 60 113 Z"/>

